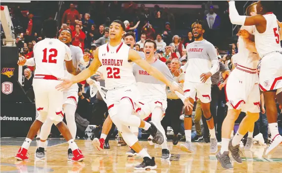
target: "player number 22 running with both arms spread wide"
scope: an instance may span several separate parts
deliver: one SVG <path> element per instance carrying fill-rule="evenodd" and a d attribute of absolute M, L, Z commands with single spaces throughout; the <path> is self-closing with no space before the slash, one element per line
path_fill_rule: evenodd
<path fill-rule="evenodd" d="M 126 143 L 133 148 L 143 158 L 143 162 L 136 166 L 137 170 L 156 169 L 154 157 L 141 147 L 138 138 L 130 130 L 129 126 L 140 127 L 148 130 L 150 134 L 162 144 L 164 135 L 157 130 L 156 126 L 150 122 L 142 121 L 137 116 L 131 115 L 135 109 L 134 101 L 138 101 L 138 89 L 133 75 L 132 62 L 137 63 L 150 75 L 159 79 L 171 89 L 183 93 L 182 89 L 172 84 L 165 76 L 150 66 L 139 54 L 122 43 L 121 39 L 125 34 L 125 25 L 120 20 L 115 20 L 110 25 L 110 42 L 98 47 L 94 54 L 94 60 L 89 68 L 82 71 L 71 80 L 64 81 L 57 86 L 57 89 L 70 87 L 72 84 L 84 81 L 92 76 L 100 65 L 105 66 L 103 76 L 107 91 L 107 106 L 109 116 L 113 123 L 121 131 Z"/>

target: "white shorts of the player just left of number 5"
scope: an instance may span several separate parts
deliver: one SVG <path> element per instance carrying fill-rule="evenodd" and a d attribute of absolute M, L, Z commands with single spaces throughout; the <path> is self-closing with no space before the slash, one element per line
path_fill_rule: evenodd
<path fill-rule="evenodd" d="M 242 70 L 239 70 L 242 69 Z M 260 112 L 259 79 L 256 69 L 237 65 L 227 80 L 226 100 L 229 109 L 242 112 Z"/>

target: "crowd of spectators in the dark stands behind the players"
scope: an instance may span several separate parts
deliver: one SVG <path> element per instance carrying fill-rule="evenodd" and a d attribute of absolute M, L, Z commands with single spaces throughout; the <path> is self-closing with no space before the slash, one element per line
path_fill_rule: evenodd
<path fill-rule="evenodd" d="M 222 7 L 223 6 L 223 7 Z M 193 17 L 189 16 L 190 21 L 203 20 L 208 26 L 205 39 L 214 45 L 220 45 L 222 38 L 221 29 L 228 28 L 228 33 L 231 33 L 231 24 L 228 17 L 228 6 L 221 5 L 221 10 L 216 13 L 212 1 L 207 1 L 202 4 L 202 8 L 197 15 Z M 26 59 L 33 57 L 33 46 L 35 43 L 41 41 L 43 38 L 40 33 L 35 32 L 33 29 L 33 14 L 27 11 L 21 11 L 20 13 L 13 14 L 22 20 L 23 33 L 19 33 L 16 36 L 16 44 L 19 48 L 19 57 L 25 57 Z M 179 16 L 178 16 L 179 17 Z M 60 31 L 69 29 L 72 31 L 72 45 L 79 46 L 83 52 L 89 52 L 91 58 L 93 58 L 96 47 L 109 42 L 109 25 L 110 22 L 120 19 L 124 21 L 126 26 L 126 32 L 133 32 L 136 36 L 136 44 L 134 49 L 142 51 L 144 42 L 146 39 L 154 40 L 157 44 L 157 50 L 155 57 L 166 63 L 168 68 L 174 77 L 182 80 L 184 74 L 180 71 L 180 67 L 187 63 L 186 46 L 194 41 L 191 29 L 188 30 L 186 36 L 177 35 L 177 26 L 179 18 L 170 12 L 169 8 L 160 8 L 159 5 L 155 5 L 153 9 L 149 9 L 145 4 L 137 4 L 134 1 L 126 1 L 122 6 L 120 1 L 73 1 L 69 4 L 69 8 L 66 9 L 60 17 Z M 226 22 L 228 21 L 228 22 Z M 189 22 L 188 22 L 189 23 Z M 223 25 L 223 23 L 226 23 Z M 189 23 L 191 24 L 191 23 Z M 230 27 L 230 28 L 229 28 Z M 59 32 L 60 32 L 59 31 Z M 223 34 L 224 35 L 224 34 Z M 225 35 L 224 35 L 225 36 Z M 225 46 L 226 51 L 219 50 L 218 59 L 221 62 L 222 70 L 219 72 L 219 79 L 213 81 L 213 86 L 217 88 L 217 97 L 215 103 L 211 104 L 214 109 L 213 116 L 215 117 L 215 127 L 217 129 L 218 141 L 221 141 L 221 124 L 227 114 L 227 106 L 225 105 L 225 88 L 220 85 L 227 78 L 225 71 L 232 71 L 233 65 L 231 63 L 231 57 L 235 55 L 237 50 L 236 42 L 230 42 L 230 47 Z M 226 53 L 223 53 L 226 52 Z M 220 55 L 221 54 L 221 55 Z M 92 60 L 91 60 L 92 61 Z M 83 70 L 83 69 L 81 69 Z M 24 89 L 34 99 L 34 93 L 32 93 L 32 79 L 33 79 L 34 67 L 24 68 Z M 99 120 L 93 119 L 97 117 L 93 115 L 94 104 L 97 98 L 90 97 L 89 85 L 87 83 L 81 83 L 80 90 L 78 92 L 79 101 L 77 107 L 77 113 L 81 117 L 87 119 L 90 124 L 97 124 L 95 121 L 103 121 L 107 116 L 103 114 L 102 117 L 98 117 Z M 32 95 L 33 94 L 33 95 Z M 32 97 L 33 96 L 33 97 Z M 184 134 L 183 117 L 175 114 L 175 110 L 182 110 L 182 103 L 175 103 L 173 100 L 175 97 L 168 94 L 168 115 L 163 121 L 162 125 L 165 130 L 168 130 L 168 134 L 172 131 L 168 127 L 172 127 L 174 133 L 172 135 Z M 170 104 L 171 102 L 171 104 Z M 278 107 L 279 112 L 281 108 Z M 241 113 L 240 117 L 245 116 Z M 194 128 L 192 137 L 194 140 L 205 140 L 208 142 L 209 133 L 206 132 L 206 121 L 201 121 L 202 111 L 199 105 L 199 101 L 195 102 L 194 106 Z M 280 132 L 282 134 L 282 115 L 279 118 Z M 239 121 L 239 120 L 238 120 Z M 238 122 L 237 122 L 238 123 Z M 101 123 L 99 123 L 101 124 Z M 260 119 L 256 123 L 256 128 L 263 134 L 264 142 L 268 140 L 268 123 L 265 112 L 260 114 Z M 97 128 L 101 130 L 101 127 Z M 79 131 L 79 130 L 78 130 Z M 258 133 L 259 133 L 258 132 Z M 55 133 L 55 132 L 54 132 Z M 95 135 L 98 135 L 95 132 Z M 257 134 L 258 134 L 257 133 Z M 114 133 L 113 133 L 114 134 Z M 80 133 L 80 137 L 84 133 Z M 53 135 L 56 136 L 56 135 Z M 183 136 L 183 135 L 182 135 Z M 140 135 L 140 137 L 143 137 Z"/>

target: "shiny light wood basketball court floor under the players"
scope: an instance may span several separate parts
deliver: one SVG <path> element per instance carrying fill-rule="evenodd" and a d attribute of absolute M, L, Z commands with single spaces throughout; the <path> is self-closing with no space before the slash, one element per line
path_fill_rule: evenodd
<path fill-rule="evenodd" d="M 3 138 L 1 138 L 3 140 Z M 24 138 L 19 138 L 21 143 Z M 36 142 L 29 149 L 30 161 L 16 161 L 14 156 L 20 144 L 1 141 L 0 148 L 0 172 L 1 173 L 133 173 L 134 166 L 141 163 L 140 157 L 127 158 L 125 152 L 129 150 L 127 146 L 117 146 L 117 141 L 110 141 L 111 149 L 97 151 L 92 146 L 90 139 L 76 140 L 86 159 L 83 162 L 75 163 L 67 161 L 67 143 L 48 146 L 46 148 L 46 161 L 35 161 L 34 153 Z M 51 140 L 54 142 L 54 140 Z M 154 171 L 141 171 L 144 173 L 282 173 L 282 147 L 272 156 L 263 155 L 265 146 L 254 146 L 251 151 L 244 151 L 243 163 L 241 165 L 233 162 L 234 170 L 225 171 L 215 155 L 209 154 L 209 144 L 192 143 L 194 152 L 186 153 L 168 142 L 172 154 L 170 161 L 161 161 L 161 148 L 157 145 L 149 145 L 148 141 L 141 141 L 151 156 L 156 159 L 157 169 Z M 220 149 L 220 146 L 219 146 Z"/>

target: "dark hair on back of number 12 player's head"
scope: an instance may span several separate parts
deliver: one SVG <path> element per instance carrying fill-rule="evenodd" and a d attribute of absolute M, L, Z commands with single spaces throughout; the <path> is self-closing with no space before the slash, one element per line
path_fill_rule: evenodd
<path fill-rule="evenodd" d="M 46 38 L 55 38 L 57 36 L 58 27 L 57 21 L 54 19 L 47 19 L 42 26 L 42 33 Z"/>

